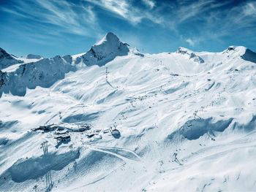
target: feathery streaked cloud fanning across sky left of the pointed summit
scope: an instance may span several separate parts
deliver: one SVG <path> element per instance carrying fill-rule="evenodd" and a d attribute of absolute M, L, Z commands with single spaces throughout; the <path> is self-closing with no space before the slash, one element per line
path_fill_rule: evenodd
<path fill-rule="evenodd" d="M 33 9 L 31 9 L 31 6 L 33 6 Z M 17 1 L 14 7 L 15 9 L 2 7 L 1 10 L 39 23 L 58 26 L 59 28 L 55 28 L 55 30 L 59 33 L 91 37 L 92 32 L 95 34 L 101 31 L 97 24 L 96 13 L 91 6 L 73 4 L 66 0 L 27 0 Z M 33 28 L 33 26 L 31 27 Z"/>

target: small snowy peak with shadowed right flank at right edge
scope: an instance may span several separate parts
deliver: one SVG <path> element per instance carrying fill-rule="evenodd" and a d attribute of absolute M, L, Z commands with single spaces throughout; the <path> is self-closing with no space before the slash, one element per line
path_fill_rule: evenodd
<path fill-rule="evenodd" d="M 231 58 L 242 58 L 245 61 L 251 61 L 256 64 L 256 53 L 244 46 L 230 46 L 223 54 Z"/>

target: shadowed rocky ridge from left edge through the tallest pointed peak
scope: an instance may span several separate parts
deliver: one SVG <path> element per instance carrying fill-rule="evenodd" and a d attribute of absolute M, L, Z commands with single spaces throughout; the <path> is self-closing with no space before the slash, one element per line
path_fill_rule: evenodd
<path fill-rule="evenodd" d="M 129 45 L 120 42 L 115 34 L 108 33 L 88 52 L 73 57 L 71 55 L 63 57 L 57 55 L 54 58 L 42 58 L 40 55 L 29 54 L 26 58 L 21 57 L 20 60 L 17 60 L 4 50 L 3 53 L 5 60 L 2 61 L 2 68 L 5 69 L 0 76 L 0 97 L 2 93 L 24 96 L 26 88 L 50 87 L 57 80 L 64 78 L 64 74 L 67 72 L 75 71 L 75 64 L 103 66 L 116 56 L 128 55 Z M 143 56 L 136 49 L 131 49 L 131 53 Z M 4 65 L 7 59 L 12 59 L 12 62 L 9 61 Z M 24 61 L 26 61 L 25 64 L 23 64 Z"/>

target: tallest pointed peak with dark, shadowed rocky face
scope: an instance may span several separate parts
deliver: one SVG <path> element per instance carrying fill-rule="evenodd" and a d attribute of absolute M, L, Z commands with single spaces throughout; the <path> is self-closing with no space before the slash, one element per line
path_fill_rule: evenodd
<path fill-rule="evenodd" d="M 127 43 L 120 42 L 115 34 L 108 33 L 97 44 L 92 46 L 86 54 L 76 58 L 75 64 L 83 61 L 86 66 L 103 66 L 116 58 L 116 56 L 128 55 L 128 46 Z"/>

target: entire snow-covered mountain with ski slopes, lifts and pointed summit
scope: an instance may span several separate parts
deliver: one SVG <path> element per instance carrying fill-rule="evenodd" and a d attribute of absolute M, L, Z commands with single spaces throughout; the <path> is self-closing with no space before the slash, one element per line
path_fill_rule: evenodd
<path fill-rule="evenodd" d="M 143 54 L 108 33 L 7 64 L 0 191 L 255 191 L 255 55 Z"/>

